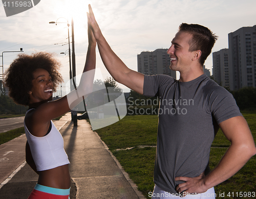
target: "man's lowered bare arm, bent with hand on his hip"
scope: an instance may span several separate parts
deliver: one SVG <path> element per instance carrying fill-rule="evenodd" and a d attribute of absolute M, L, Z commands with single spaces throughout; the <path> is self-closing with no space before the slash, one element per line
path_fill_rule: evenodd
<path fill-rule="evenodd" d="M 185 181 L 177 186 L 177 191 L 202 193 L 237 173 L 246 162 L 256 154 L 256 148 L 250 129 L 244 117 L 238 116 L 220 123 L 223 134 L 231 142 L 218 166 L 208 175 L 196 178 L 177 177 L 176 181 Z"/>

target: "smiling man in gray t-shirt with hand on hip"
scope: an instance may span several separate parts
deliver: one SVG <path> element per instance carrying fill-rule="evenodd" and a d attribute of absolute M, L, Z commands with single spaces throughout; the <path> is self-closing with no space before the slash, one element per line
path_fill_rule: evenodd
<path fill-rule="evenodd" d="M 239 171 L 256 153 L 250 129 L 232 95 L 204 75 L 203 63 L 217 37 L 200 25 L 180 26 L 167 51 L 170 69 L 180 72 L 177 81 L 127 68 L 104 39 L 90 6 L 88 17 L 102 61 L 113 78 L 140 94 L 160 98 L 152 198 L 179 197 L 179 193 L 215 198 L 214 186 Z M 209 171 L 210 146 L 219 127 L 231 145 L 219 165 Z"/>

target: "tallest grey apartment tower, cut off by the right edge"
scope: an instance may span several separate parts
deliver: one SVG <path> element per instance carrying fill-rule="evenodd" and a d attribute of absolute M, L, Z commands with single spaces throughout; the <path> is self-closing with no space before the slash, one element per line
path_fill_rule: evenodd
<path fill-rule="evenodd" d="M 256 85 L 256 25 L 228 34 L 229 87 L 238 90 Z"/>

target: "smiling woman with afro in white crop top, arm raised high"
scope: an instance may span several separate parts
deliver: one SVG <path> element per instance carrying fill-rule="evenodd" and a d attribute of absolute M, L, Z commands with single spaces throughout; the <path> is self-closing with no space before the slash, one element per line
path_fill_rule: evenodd
<path fill-rule="evenodd" d="M 51 120 L 67 113 L 71 106 L 82 100 L 82 96 L 90 93 L 96 62 L 96 40 L 90 26 L 88 38 L 83 72 L 90 71 L 90 78 L 82 75 L 77 89 L 59 100 L 51 101 L 57 84 L 62 82 L 58 73 L 60 63 L 52 54 L 20 54 L 6 72 L 5 83 L 9 88 L 9 96 L 17 104 L 29 106 L 24 120 L 28 140 L 26 161 L 39 175 L 29 199 L 69 198 L 69 160 L 63 148 L 63 138 Z"/>

